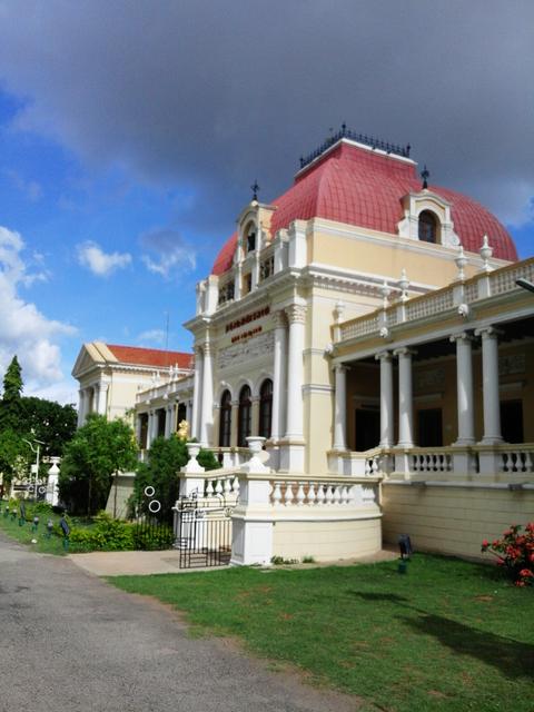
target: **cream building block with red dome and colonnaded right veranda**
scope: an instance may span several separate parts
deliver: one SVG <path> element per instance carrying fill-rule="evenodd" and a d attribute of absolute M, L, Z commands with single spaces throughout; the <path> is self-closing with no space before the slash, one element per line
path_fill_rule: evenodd
<path fill-rule="evenodd" d="M 284 195 L 254 196 L 197 286 L 191 435 L 228 472 L 249 436 L 268 454 L 240 479 L 236 563 L 405 532 L 476 556 L 534 515 L 534 295 L 516 285 L 534 260 L 422 178 L 409 148 L 344 127 Z"/>

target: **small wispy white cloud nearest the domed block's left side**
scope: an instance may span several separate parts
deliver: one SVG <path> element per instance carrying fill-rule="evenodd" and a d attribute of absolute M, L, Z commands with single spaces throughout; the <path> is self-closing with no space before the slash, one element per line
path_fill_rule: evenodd
<path fill-rule="evenodd" d="M 165 279 L 196 267 L 195 250 L 176 230 L 164 228 L 147 233 L 141 236 L 140 243 L 141 247 L 151 253 L 141 256 L 145 266 Z"/>

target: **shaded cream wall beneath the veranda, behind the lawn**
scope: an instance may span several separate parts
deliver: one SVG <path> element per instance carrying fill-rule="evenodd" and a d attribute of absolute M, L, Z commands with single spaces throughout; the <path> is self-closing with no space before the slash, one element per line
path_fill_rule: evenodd
<path fill-rule="evenodd" d="M 534 491 L 383 485 L 384 542 L 409 534 L 415 551 L 482 558 L 481 542 L 534 517 Z M 487 561 L 487 556 L 485 560 Z"/>

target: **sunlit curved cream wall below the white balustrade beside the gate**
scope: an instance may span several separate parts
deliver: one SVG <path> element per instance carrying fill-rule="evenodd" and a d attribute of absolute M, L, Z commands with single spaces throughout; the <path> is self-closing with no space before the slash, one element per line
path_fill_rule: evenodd
<path fill-rule="evenodd" d="M 332 522 L 276 522 L 273 555 L 338 561 L 375 554 L 382 548 L 380 516 Z"/>

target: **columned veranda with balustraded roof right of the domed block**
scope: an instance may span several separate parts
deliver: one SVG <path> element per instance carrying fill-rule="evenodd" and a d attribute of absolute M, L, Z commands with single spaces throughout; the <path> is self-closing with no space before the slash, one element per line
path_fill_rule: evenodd
<path fill-rule="evenodd" d="M 525 260 L 342 324 L 333 451 L 355 459 L 363 441 L 354 409 L 374 403 L 372 448 L 383 465 L 389 458 L 389 477 L 532 478 L 534 426 L 523 413 L 533 403 L 534 316 L 515 279 L 533 274 Z M 330 462 L 338 467 L 338 455 Z"/>

